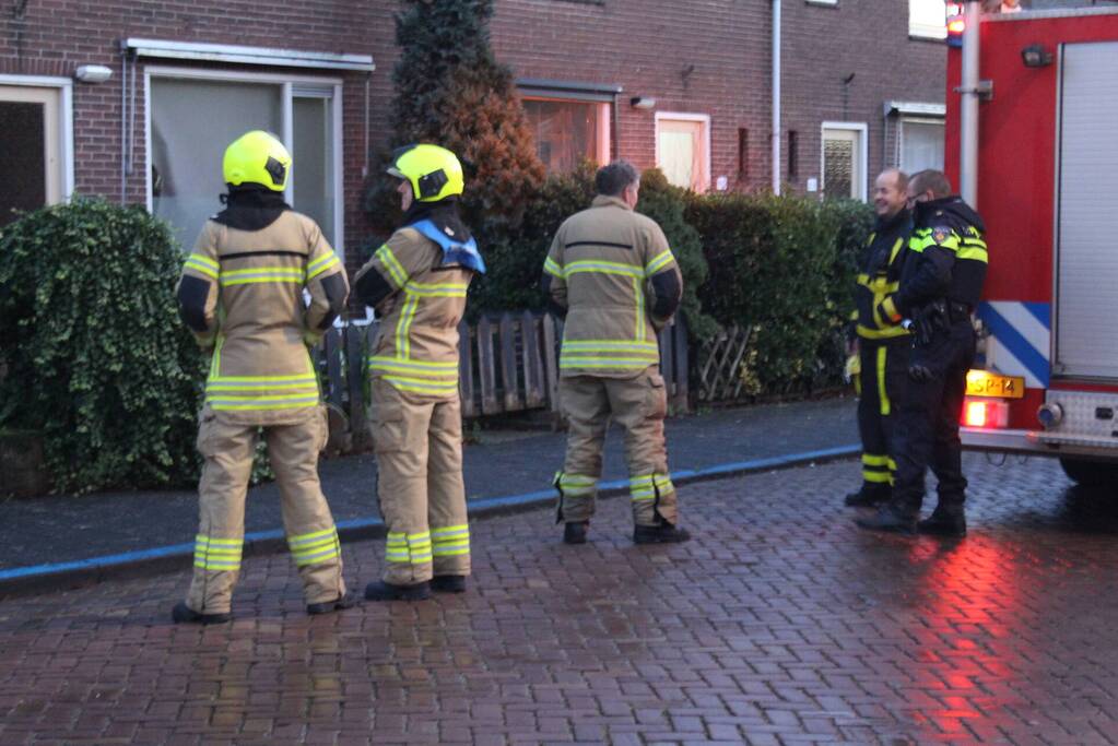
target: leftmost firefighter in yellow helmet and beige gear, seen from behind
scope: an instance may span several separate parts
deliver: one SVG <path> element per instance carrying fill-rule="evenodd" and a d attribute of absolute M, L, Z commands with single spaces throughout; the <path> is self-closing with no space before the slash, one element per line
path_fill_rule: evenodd
<path fill-rule="evenodd" d="M 230 618 L 259 429 L 306 611 L 344 609 L 353 602 L 319 485 L 326 419 L 307 344 L 344 307 L 345 272 L 319 226 L 284 203 L 291 156 L 275 137 L 259 131 L 241 136 L 226 150 L 222 171 L 226 209 L 206 222 L 178 287 L 182 318 L 212 360 L 198 430 L 205 466 L 193 580 L 172 616 L 200 623 Z"/>

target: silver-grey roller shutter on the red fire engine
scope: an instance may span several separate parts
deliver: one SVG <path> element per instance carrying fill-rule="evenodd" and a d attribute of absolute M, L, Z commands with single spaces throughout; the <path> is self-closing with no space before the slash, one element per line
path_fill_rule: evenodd
<path fill-rule="evenodd" d="M 1118 44 L 1065 45 L 1060 75 L 1053 372 L 1118 379 Z"/>

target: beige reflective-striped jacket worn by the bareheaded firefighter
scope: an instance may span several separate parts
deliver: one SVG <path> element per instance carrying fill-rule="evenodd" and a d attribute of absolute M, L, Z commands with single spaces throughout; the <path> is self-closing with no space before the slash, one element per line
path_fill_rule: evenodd
<path fill-rule="evenodd" d="M 560 226 L 543 285 L 566 313 L 561 375 L 627 379 L 660 363 L 656 329 L 679 308 L 683 279 L 651 218 L 596 197 Z"/>

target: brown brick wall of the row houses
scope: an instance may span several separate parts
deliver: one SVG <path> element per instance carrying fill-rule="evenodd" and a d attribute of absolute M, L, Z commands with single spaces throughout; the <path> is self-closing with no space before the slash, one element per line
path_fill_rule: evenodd
<path fill-rule="evenodd" d="M 818 175 L 819 125 L 824 119 L 864 122 L 869 128 L 869 175 L 887 146 L 882 104 L 887 99 L 944 101 L 945 48 L 910 40 L 906 2 L 839 0 L 826 7 L 784 0 L 784 143 L 798 136 L 803 189 Z M 120 200 L 122 192 L 122 55 L 127 37 L 372 55 L 377 69 L 323 73 L 343 80 L 343 168 L 347 245 L 364 237 L 360 210 L 364 128 L 376 149 L 387 136 L 391 69 L 396 59 L 394 0 L 30 0 L 0 19 L 0 75 L 69 77 L 79 65 L 114 70 L 100 85 L 75 83 L 76 189 Z M 492 25 L 500 59 L 519 77 L 620 85 L 615 107 L 614 153 L 638 166 L 654 165 L 654 112 L 629 106 L 633 96 L 656 99 L 656 111 L 708 114 L 711 176 L 731 189 L 765 188 L 769 176 L 769 0 L 498 0 Z M 124 179 L 129 202 L 146 200 L 143 70 L 136 64 L 133 161 Z M 202 64 L 193 64 L 202 65 Z M 206 63 L 207 69 L 269 68 Z M 271 71 L 281 71 L 273 68 Z M 316 75 L 313 70 L 288 70 Z M 850 84 L 842 83 L 849 74 Z M 368 90 L 368 106 L 367 106 Z M 747 132 L 746 171 L 739 179 L 739 133 Z M 350 252 L 352 257 L 356 252 Z"/>

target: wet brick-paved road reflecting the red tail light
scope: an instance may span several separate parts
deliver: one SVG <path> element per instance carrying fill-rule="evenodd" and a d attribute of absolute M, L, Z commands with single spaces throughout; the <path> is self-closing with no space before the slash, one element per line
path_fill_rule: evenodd
<path fill-rule="evenodd" d="M 1114 743 L 1118 499 L 967 463 L 960 543 L 853 528 L 842 462 L 684 488 L 676 547 L 620 499 L 585 547 L 480 522 L 474 589 L 426 604 L 309 619 L 282 555 L 205 630 L 165 621 L 182 574 L 0 602 L 0 744 Z"/>

